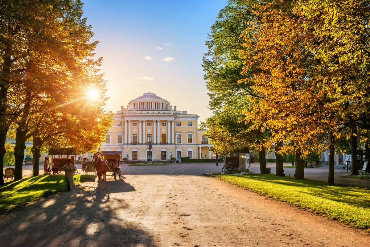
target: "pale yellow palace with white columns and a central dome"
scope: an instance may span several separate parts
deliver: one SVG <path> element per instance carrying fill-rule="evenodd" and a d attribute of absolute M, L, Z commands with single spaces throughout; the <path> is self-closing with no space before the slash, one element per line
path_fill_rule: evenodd
<path fill-rule="evenodd" d="M 212 144 L 198 130 L 198 118 L 147 92 L 114 114 L 100 150 L 120 151 L 131 161 L 211 159 Z"/>

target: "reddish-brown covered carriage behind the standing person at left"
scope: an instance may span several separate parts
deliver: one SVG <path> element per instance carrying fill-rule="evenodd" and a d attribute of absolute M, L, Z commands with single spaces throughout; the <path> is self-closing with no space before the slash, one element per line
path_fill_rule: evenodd
<path fill-rule="evenodd" d="M 70 159 L 72 164 L 76 165 L 76 152 L 74 148 L 53 148 L 49 149 L 50 158 L 50 175 L 60 175 L 63 166 L 67 164 L 67 160 Z M 73 175 L 77 174 L 78 170 L 75 169 Z"/>

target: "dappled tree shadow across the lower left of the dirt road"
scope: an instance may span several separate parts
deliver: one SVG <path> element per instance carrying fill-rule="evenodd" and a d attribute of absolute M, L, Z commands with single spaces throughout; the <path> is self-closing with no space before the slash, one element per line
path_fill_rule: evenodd
<path fill-rule="evenodd" d="M 123 180 L 89 183 L 21 207 L 0 220 L 1 246 L 154 246 L 122 217 L 129 204 L 115 193 L 133 190 Z"/>

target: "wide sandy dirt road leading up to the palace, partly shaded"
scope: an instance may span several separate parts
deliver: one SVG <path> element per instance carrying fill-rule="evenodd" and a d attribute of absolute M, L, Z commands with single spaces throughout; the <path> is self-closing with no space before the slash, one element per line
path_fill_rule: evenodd
<path fill-rule="evenodd" d="M 228 185 L 213 164 L 127 166 L 0 219 L 1 246 L 369 246 L 370 233 Z"/>

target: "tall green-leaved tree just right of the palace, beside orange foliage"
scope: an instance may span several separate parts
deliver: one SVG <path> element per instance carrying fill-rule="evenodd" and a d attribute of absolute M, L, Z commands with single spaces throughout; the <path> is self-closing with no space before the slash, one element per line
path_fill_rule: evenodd
<path fill-rule="evenodd" d="M 230 0 L 211 26 L 209 40 L 206 41 L 208 52 L 204 54 L 202 66 L 206 72 L 206 87 L 210 91 L 209 105 L 214 115 L 206 119 L 205 125 L 209 128 L 206 135 L 216 149 L 219 147 L 219 152 L 233 152 L 246 140 L 253 143 L 251 148 L 258 148 L 261 157 L 261 173 L 266 173 L 265 146 L 259 140 L 265 134 L 258 130 L 248 132 L 249 123 L 242 121 L 243 115 L 238 112 L 249 107 L 246 96 L 254 95 L 251 84 L 239 83 L 239 80 L 250 77 L 253 72 L 240 74 L 243 68 L 240 58 L 243 38 L 240 35 L 249 26 L 248 22 L 255 18 L 251 10 L 256 2 Z M 228 116 L 231 118 L 227 119 Z M 239 136 L 242 138 L 238 139 Z"/>

